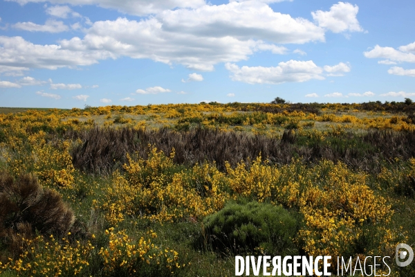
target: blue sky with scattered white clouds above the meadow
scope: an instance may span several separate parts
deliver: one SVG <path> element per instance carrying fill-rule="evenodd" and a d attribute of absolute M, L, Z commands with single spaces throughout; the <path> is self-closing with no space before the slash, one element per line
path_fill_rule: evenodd
<path fill-rule="evenodd" d="M 0 107 L 415 100 L 412 0 L 0 0 Z"/>

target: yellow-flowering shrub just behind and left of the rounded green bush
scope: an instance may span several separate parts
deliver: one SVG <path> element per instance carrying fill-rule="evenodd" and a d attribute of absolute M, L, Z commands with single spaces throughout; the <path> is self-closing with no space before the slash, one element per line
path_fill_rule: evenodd
<path fill-rule="evenodd" d="M 160 222 L 199 218 L 223 207 L 229 199 L 223 191 L 223 173 L 208 164 L 172 172 L 173 157 L 174 150 L 165 157 L 156 148 L 151 148 L 147 160 L 128 156 L 127 179 L 116 173 L 102 204 L 111 224 L 122 222 L 125 215 Z"/>

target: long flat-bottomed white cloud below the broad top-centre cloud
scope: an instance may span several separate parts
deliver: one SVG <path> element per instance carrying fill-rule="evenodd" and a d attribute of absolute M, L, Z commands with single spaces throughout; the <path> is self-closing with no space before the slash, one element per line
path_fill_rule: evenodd
<path fill-rule="evenodd" d="M 248 84 L 281 84 L 283 82 L 306 82 L 308 80 L 323 80 L 320 75 L 322 69 L 313 61 L 301 62 L 290 60 L 280 62 L 275 67 L 242 66 L 237 64 L 225 64 L 225 68 L 232 73 L 230 78 L 234 81 L 247 82 Z"/>

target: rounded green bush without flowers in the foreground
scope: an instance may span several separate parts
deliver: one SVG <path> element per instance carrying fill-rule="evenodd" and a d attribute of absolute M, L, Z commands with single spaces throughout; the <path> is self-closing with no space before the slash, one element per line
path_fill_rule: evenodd
<path fill-rule="evenodd" d="M 281 206 L 228 203 L 203 221 L 205 238 L 221 253 L 293 255 L 297 222 Z"/>

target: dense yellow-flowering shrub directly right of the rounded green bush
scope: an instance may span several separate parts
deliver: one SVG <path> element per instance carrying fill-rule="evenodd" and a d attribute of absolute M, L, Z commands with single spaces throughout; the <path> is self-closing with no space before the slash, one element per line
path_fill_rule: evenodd
<path fill-rule="evenodd" d="M 358 243 L 365 231 L 363 226 L 380 228 L 389 223 L 391 207 L 366 185 L 367 175 L 351 172 L 342 163 L 323 162 L 314 170 L 317 175 L 324 170 L 329 172 L 324 176 L 326 180 L 314 180 L 299 197 L 306 222 L 299 238 L 304 240 L 304 250 L 310 255 L 344 255 Z M 384 244 L 382 247 L 389 249 Z"/>

